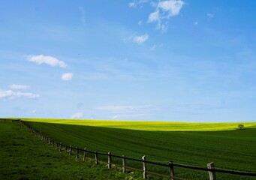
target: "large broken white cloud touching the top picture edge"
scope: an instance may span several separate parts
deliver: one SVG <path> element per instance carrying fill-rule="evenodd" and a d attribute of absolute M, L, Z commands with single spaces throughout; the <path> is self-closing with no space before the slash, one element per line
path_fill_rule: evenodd
<path fill-rule="evenodd" d="M 182 0 L 167 0 L 152 3 L 155 11 L 149 14 L 148 23 L 157 23 L 156 29 L 164 32 L 167 31 L 167 20 L 170 17 L 177 16 L 185 4 Z"/>

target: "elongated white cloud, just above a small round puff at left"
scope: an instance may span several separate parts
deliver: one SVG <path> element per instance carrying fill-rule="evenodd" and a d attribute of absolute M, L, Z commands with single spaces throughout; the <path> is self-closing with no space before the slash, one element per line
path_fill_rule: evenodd
<path fill-rule="evenodd" d="M 38 65 L 47 64 L 50 66 L 59 66 L 60 68 L 67 68 L 65 62 L 62 62 L 58 58 L 55 58 L 50 55 L 26 55 L 26 58 L 29 60 L 29 62 L 35 62 Z"/>

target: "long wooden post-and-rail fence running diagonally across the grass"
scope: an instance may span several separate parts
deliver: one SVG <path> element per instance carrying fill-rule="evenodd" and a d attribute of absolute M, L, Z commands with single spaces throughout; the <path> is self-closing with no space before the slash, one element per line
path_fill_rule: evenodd
<path fill-rule="evenodd" d="M 62 144 L 62 142 L 56 142 L 56 140 L 51 139 L 50 137 L 48 137 L 46 134 L 44 134 L 40 130 L 35 129 L 35 127 L 32 127 L 26 121 L 22 121 L 20 119 L 17 121 L 20 121 L 21 124 L 28 127 L 29 130 L 31 130 L 33 133 L 35 133 L 37 136 L 39 136 L 44 142 L 51 144 L 53 147 L 55 146 L 55 148 L 59 148 L 59 151 L 66 151 L 70 155 L 74 154 L 76 156 L 76 158 L 79 158 L 80 155 L 82 154 L 83 160 L 86 160 L 86 158 L 89 158 L 88 154 L 94 154 L 95 163 L 98 164 L 100 162 L 98 155 L 102 155 L 102 156 L 107 157 L 107 162 L 104 162 L 104 161 L 101 161 L 101 162 L 107 163 L 107 166 L 109 169 L 112 168 L 113 165 L 122 166 L 122 172 L 126 172 L 126 169 L 136 169 L 134 167 L 126 166 L 126 160 L 140 162 L 142 164 L 142 169 L 143 169 L 143 178 L 147 178 L 148 173 L 152 173 L 147 170 L 147 164 L 152 164 L 154 166 L 162 166 L 162 167 L 168 168 L 169 169 L 168 176 L 170 177 L 171 180 L 183 179 L 183 178 L 178 178 L 175 176 L 174 167 L 180 167 L 180 168 L 185 168 L 185 169 L 196 169 L 196 170 L 208 172 L 209 180 L 216 180 L 216 175 L 215 175 L 216 172 L 232 174 L 232 175 L 246 175 L 246 176 L 256 177 L 256 172 L 243 172 L 243 171 L 234 171 L 234 170 L 229 170 L 229 169 L 215 168 L 213 162 L 208 163 L 207 168 L 205 168 L 205 167 L 200 167 L 200 166 L 189 166 L 189 165 L 184 165 L 184 164 L 180 164 L 180 163 L 173 163 L 172 161 L 170 161 L 167 164 L 158 163 L 158 162 L 146 160 L 146 156 L 143 156 L 141 159 L 135 159 L 135 158 L 131 158 L 131 157 L 125 157 L 125 155 L 122 155 L 122 156 L 114 155 L 114 154 L 111 154 L 111 152 L 100 153 L 98 151 L 89 151 L 86 148 L 82 149 L 82 148 L 78 148 L 78 147 L 73 147 L 72 145 Z M 113 157 L 121 159 L 122 164 L 114 164 L 112 161 Z M 92 159 L 92 156 L 90 157 L 90 159 Z M 140 170 L 140 169 L 137 169 L 137 170 Z"/>

